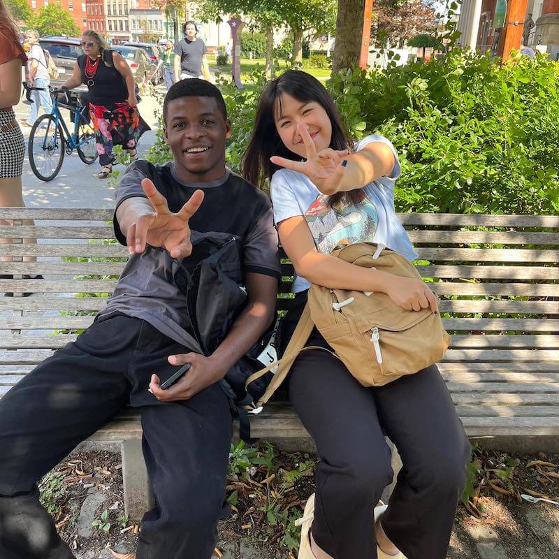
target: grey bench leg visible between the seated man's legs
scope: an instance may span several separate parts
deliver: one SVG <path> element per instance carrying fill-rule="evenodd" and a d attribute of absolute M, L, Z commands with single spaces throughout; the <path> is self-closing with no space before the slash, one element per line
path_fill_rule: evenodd
<path fill-rule="evenodd" d="M 139 522 L 154 504 L 142 453 L 142 440 L 130 439 L 122 442 L 121 452 L 124 514 L 131 521 Z"/>

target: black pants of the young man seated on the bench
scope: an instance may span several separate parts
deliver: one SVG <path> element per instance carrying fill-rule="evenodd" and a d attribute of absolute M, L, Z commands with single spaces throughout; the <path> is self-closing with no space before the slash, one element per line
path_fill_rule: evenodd
<path fill-rule="evenodd" d="M 0 558 L 70 559 L 36 482 L 131 403 L 157 505 L 142 522 L 138 559 L 210 559 L 225 496 L 232 418 L 213 384 L 183 402 L 147 391 L 186 347 L 145 321 L 99 319 L 0 400 Z"/>

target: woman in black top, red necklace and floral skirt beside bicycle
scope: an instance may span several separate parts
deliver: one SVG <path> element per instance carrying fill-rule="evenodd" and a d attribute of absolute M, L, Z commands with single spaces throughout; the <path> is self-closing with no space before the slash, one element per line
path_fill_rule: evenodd
<path fill-rule="evenodd" d="M 136 83 L 124 58 L 91 29 L 82 34 L 81 45 L 84 54 L 78 57 L 72 77 L 62 87 L 73 89 L 85 83 L 89 89 L 89 113 L 102 166 L 97 176 L 104 179 L 115 164 L 112 148 L 122 145 L 132 159 L 137 159 L 138 140 L 150 126 L 138 112 Z"/>

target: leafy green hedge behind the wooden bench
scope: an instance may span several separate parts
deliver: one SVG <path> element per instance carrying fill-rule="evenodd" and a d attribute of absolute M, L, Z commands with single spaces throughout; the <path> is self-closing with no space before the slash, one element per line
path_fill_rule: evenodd
<path fill-rule="evenodd" d="M 228 164 L 239 170 L 252 126 L 256 87 L 219 84 L 233 122 Z M 382 133 L 400 154 L 400 211 L 544 214 L 559 211 L 559 70 L 544 55 L 503 68 L 453 50 L 442 59 L 387 71 L 359 69 L 328 83 L 355 139 Z M 169 152 L 159 134 L 152 156 Z"/>

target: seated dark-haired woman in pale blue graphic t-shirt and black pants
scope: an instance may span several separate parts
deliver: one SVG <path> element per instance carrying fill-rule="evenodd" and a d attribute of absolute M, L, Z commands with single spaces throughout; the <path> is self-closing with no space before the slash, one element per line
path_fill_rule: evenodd
<path fill-rule="evenodd" d="M 382 242 L 410 261 L 416 258 L 395 215 L 400 164 L 393 145 L 373 135 L 354 147 L 318 80 L 288 71 L 268 83 L 243 170 L 253 184 L 271 179 L 277 231 L 296 270 L 295 307 L 284 331 L 292 333 L 310 283 L 382 291 L 410 312 L 438 312 L 437 297 L 421 280 L 329 254 L 344 239 Z M 309 344 L 327 346 L 316 330 Z M 298 356 L 287 382 L 321 458 L 317 491 L 305 507 L 299 559 L 401 559 L 402 553 L 446 558 L 470 444 L 437 366 L 365 388 L 342 361 L 311 350 Z M 393 477 L 385 435 L 403 467 L 389 507 L 376 507 L 373 515 Z"/>

